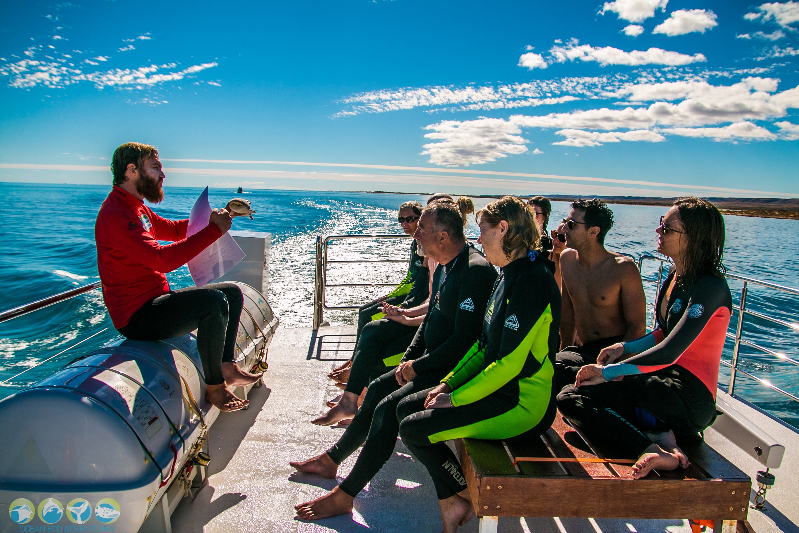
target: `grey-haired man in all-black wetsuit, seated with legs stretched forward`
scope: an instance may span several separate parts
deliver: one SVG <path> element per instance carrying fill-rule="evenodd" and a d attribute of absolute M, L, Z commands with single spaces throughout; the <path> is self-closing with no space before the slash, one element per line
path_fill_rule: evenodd
<path fill-rule="evenodd" d="M 369 384 L 364 403 L 338 442 L 322 455 L 291 463 L 298 471 L 335 478 L 340 463 L 364 444 L 339 487 L 295 507 L 300 519 L 323 519 L 352 511 L 352 500 L 394 451 L 400 426 L 396 405 L 403 397 L 438 384 L 479 336 L 497 272 L 467 244 L 457 205 L 451 201 L 427 205 L 414 238 L 429 257 L 441 263 L 435 271 L 435 286 L 439 288 L 431 298 L 431 308 L 403 362 Z"/>

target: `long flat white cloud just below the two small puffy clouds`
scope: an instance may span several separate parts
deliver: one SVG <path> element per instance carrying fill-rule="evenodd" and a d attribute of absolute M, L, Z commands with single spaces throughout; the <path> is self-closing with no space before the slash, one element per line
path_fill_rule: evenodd
<path fill-rule="evenodd" d="M 660 48 L 650 48 L 649 50 L 632 50 L 625 52 L 612 46 L 604 48 L 594 48 L 590 45 L 578 45 L 577 39 L 571 39 L 566 46 L 555 45 L 550 49 L 551 60 L 554 62 L 566 62 L 579 59 L 585 62 L 598 62 L 601 66 L 607 65 L 690 65 L 695 62 L 706 62 L 707 58 L 703 54 L 686 55 Z"/>

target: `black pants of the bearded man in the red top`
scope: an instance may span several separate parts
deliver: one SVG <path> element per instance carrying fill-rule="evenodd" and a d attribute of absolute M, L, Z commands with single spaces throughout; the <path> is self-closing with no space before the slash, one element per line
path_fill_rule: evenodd
<path fill-rule="evenodd" d="M 225 383 L 221 364 L 234 359 L 243 302 L 232 283 L 181 288 L 149 300 L 117 331 L 133 340 L 161 340 L 197 329 L 205 383 L 219 385 Z"/>

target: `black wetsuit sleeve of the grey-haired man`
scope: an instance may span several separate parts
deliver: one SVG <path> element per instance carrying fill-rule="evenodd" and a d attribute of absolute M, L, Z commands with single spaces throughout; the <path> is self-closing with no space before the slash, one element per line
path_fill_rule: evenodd
<path fill-rule="evenodd" d="M 465 308 L 463 305 L 457 308 L 455 328 L 451 335 L 434 350 L 415 360 L 414 372 L 421 374 L 431 370 L 455 368 L 458 361 L 475 344 L 475 340 L 482 331 L 483 313 L 486 312 L 486 305 L 496 277 L 496 271 L 487 263 L 467 268 L 463 279 L 460 280 L 458 302 L 464 302 L 471 298 L 474 308 Z"/>

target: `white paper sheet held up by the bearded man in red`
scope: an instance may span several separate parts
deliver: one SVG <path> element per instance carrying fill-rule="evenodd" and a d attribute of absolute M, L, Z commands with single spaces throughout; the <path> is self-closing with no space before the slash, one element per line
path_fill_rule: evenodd
<path fill-rule="evenodd" d="M 189 214 L 189 229 L 186 231 L 186 237 L 191 237 L 208 225 L 211 211 L 208 187 L 206 187 L 194 202 L 192 212 Z M 244 259 L 244 251 L 239 248 L 230 233 L 225 233 L 189 261 L 189 273 L 192 275 L 194 284 L 197 287 L 202 287 L 221 277 L 242 259 Z"/>

